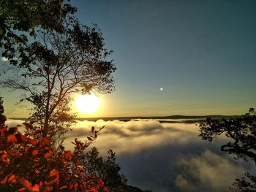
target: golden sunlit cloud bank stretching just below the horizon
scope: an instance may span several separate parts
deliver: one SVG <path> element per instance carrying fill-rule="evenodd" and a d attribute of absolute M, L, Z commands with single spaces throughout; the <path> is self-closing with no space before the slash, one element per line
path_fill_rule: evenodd
<path fill-rule="evenodd" d="M 73 127 L 73 131 L 67 135 L 65 145 L 70 148 L 72 145 L 69 143 L 75 138 L 86 139 L 86 136 L 90 134 L 91 126 L 96 128 L 105 126 L 95 143 L 99 151 L 102 152 L 111 148 L 116 153 L 135 153 L 143 149 L 171 143 L 186 144 L 189 140 L 194 139 L 200 142 L 200 139 L 195 135 L 197 127 L 192 124 L 159 123 L 155 120 L 130 120 L 128 122 L 99 120 L 97 122 L 78 122 Z"/>

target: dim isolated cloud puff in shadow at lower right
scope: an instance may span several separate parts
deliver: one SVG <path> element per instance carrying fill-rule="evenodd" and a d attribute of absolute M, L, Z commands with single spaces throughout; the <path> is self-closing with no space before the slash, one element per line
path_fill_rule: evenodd
<path fill-rule="evenodd" d="M 244 174 L 242 166 L 210 150 L 183 158 L 178 165 L 182 172 L 176 177 L 176 186 L 181 191 L 227 191 L 227 186 Z"/>

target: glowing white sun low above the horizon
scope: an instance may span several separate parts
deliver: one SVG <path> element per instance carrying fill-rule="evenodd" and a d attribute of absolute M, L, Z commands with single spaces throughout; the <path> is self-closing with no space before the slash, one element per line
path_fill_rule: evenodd
<path fill-rule="evenodd" d="M 75 106 L 78 112 L 83 114 L 91 114 L 99 109 L 99 97 L 94 94 L 79 95 L 75 99 Z"/>

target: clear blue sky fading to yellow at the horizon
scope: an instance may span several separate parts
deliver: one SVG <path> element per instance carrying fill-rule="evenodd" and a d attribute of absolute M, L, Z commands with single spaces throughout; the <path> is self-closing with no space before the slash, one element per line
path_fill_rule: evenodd
<path fill-rule="evenodd" d="M 71 1 L 113 50 L 98 117 L 241 115 L 256 107 L 256 1 Z M 162 88 L 162 90 L 161 90 Z M 26 116 L 1 90 L 7 116 Z"/>

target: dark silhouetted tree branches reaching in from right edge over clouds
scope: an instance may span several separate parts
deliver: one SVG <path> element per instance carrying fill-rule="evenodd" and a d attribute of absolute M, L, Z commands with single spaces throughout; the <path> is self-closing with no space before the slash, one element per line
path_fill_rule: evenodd
<path fill-rule="evenodd" d="M 200 137 L 211 142 L 221 134 L 229 139 L 221 150 L 236 155 L 236 158 L 248 158 L 256 164 L 256 112 L 250 108 L 249 112 L 238 118 L 214 120 L 207 119 L 200 123 Z M 233 184 L 233 191 L 256 191 L 256 177 L 246 173 L 246 178 L 237 179 Z"/>

